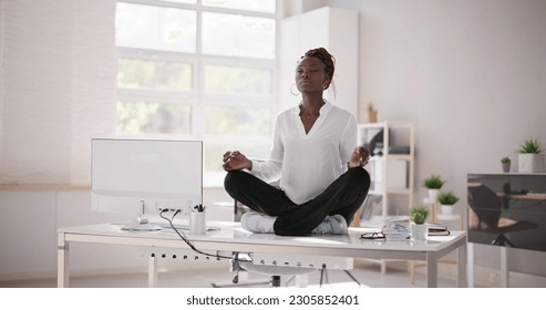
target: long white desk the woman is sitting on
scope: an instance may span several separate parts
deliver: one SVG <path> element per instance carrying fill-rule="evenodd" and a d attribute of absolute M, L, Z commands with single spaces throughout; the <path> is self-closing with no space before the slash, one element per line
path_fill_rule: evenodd
<path fill-rule="evenodd" d="M 360 239 L 360 235 L 377 229 L 349 228 L 348 235 L 280 237 L 272 234 L 250 234 L 239 223 L 215 221 L 208 225 L 220 230 L 207 235 L 187 235 L 193 245 L 203 251 L 233 251 L 261 254 L 292 254 L 309 256 L 353 257 L 372 259 L 402 259 L 426 261 L 427 287 L 437 286 L 437 260 L 457 251 L 457 286 L 466 286 L 466 232 L 452 231 L 451 236 L 430 237 L 427 241 L 385 241 Z M 187 231 L 185 231 L 187 232 Z M 187 249 L 188 246 L 171 229 L 152 232 L 122 230 L 120 226 L 102 224 L 59 229 L 58 286 L 69 286 L 69 249 L 71 242 L 142 246 Z M 281 256 L 281 255 L 280 255 Z M 148 281 L 156 282 L 156 257 L 150 258 Z"/>

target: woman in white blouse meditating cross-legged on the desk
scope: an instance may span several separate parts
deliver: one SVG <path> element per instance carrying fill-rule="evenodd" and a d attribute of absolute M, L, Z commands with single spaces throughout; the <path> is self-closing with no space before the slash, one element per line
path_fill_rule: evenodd
<path fill-rule="evenodd" d="M 238 151 L 224 154 L 224 186 L 254 210 L 241 217 L 251 232 L 280 236 L 347 234 L 370 188 L 363 166 L 370 153 L 356 146 L 357 122 L 322 99 L 332 83 L 334 58 L 323 48 L 297 63 L 300 103 L 277 116 L 270 156 L 250 161 Z M 280 188 L 268 182 L 280 179 Z"/>

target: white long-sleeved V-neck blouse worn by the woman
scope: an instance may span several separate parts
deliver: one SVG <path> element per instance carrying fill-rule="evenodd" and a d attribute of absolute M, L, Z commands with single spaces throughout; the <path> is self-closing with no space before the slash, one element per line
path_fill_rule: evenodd
<path fill-rule="evenodd" d="M 308 134 L 299 106 L 279 115 L 269 159 L 253 161 L 251 174 L 280 188 L 296 204 L 321 194 L 344 170 L 357 147 L 357 121 L 348 111 L 326 101 Z"/>

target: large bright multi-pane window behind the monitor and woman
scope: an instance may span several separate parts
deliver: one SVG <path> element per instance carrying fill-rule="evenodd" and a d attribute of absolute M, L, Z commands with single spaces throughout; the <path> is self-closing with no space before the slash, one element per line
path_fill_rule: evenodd
<path fill-rule="evenodd" d="M 116 7 L 120 136 L 204 141 L 205 186 L 222 155 L 267 157 L 276 105 L 276 0 L 138 0 Z"/>

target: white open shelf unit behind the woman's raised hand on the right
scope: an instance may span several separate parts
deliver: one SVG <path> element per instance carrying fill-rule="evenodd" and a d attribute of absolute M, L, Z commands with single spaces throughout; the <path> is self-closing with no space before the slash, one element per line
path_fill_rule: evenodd
<path fill-rule="evenodd" d="M 373 147 L 370 143 L 377 137 L 382 142 Z M 381 213 L 363 219 L 361 226 L 382 227 L 389 217 L 408 215 L 413 205 L 414 127 L 403 121 L 359 124 L 357 140 L 359 145 L 373 147 L 365 166 L 371 177 L 368 195 L 381 197 Z"/>

